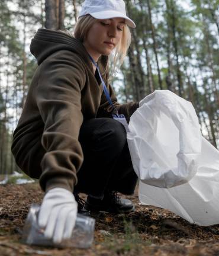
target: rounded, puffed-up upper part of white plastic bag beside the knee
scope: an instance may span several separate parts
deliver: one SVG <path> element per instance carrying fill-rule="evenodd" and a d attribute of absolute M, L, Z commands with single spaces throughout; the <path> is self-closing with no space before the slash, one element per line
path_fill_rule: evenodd
<path fill-rule="evenodd" d="M 169 188 L 194 177 L 201 132 L 191 103 L 170 91 L 154 91 L 140 101 L 128 128 L 133 167 L 143 183 Z"/>

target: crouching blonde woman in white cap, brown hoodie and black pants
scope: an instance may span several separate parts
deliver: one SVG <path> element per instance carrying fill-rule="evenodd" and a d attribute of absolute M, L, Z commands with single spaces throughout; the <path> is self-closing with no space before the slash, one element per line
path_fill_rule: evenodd
<path fill-rule="evenodd" d="M 118 104 L 108 84 L 108 56 L 115 49 L 114 64 L 121 65 L 130 44 L 127 25 L 135 27 L 123 0 L 86 0 L 75 37 L 41 28 L 31 41 L 38 68 L 12 152 L 25 173 L 40 179 L 46 194 L 38 222 L 54 242 L 70 236 L 79 192 L 88 194 L 86 210 L 134 210 L 117 195 L 133 194 L 137 176 L 125 127 L 112 114 L 128 121 L 139 104 Z"/>

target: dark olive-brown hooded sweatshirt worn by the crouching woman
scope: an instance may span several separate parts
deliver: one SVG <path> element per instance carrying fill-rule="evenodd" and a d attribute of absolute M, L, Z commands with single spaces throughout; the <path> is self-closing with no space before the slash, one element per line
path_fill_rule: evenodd
<path fill-rule="evenodd" d="M 14 131 L 12 153 L 25 173 L 40 178 L 44 191 L 54 187 L 73 191 L 83 162 L 80 126 L 83 120 L 111 117 L 112 107 L 78 39 L 40 28 L 30 51 L 38 68 Z M 104 57 L 98 65 L 102 72 Z M 112 103 L 129 120 L 139 104 L 118 104 L 107 78 L 108 72 L 104 79 Z"/>

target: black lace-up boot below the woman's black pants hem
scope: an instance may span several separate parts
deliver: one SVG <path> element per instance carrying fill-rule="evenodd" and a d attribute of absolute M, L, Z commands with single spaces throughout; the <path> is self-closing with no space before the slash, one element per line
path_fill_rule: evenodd
<path fill-rule="evenodd" d="M 91 212 L 129 213 L 134 211 L 134 204 L 118 196 L 114 191 L 104 194 L 104 199 L 95 199 L 88 196 L 85 209 Z"/>

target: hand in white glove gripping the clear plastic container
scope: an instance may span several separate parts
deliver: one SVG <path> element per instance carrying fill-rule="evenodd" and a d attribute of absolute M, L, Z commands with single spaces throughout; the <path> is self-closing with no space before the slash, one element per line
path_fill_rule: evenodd
<path fill-rule="evenodd" d="M 55 244 L 70 238 L 78 212 L 73 193 L 65 188 L 52 188 L 44 196 L 38 215 L 38 225 Z"/>

